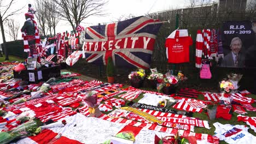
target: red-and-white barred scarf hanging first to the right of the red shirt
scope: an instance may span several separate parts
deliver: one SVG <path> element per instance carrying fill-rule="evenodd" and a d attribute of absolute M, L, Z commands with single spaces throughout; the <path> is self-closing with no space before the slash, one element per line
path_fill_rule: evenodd
<path fill-rule="evenodd" d="M 196 35 L 196 58 L 195 58 L 195 66 L 196 68 L 202 67 L 202 50 L 203 50 L 203 35 L 200 30 L 197 30 Z"/>

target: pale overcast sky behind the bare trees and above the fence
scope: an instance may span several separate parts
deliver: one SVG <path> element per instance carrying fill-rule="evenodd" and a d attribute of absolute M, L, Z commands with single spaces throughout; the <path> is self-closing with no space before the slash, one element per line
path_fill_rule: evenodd
<path fill-rule="evenodd" d="M 10 0 L 4 0 L 4 1 L 10 1 Z M 88 17 L 88 19 L 85 19 L 84 21 L 82 21 L 81 25 L 84 27 L 87 27 L 87 26 L 97 25 L 97 23 L 103 23 L 103 22 L 108 23 L 108 22 L 116 21 L 122 15 L 132 14 L 135 16 L 141 16 L 147 13 L 154 13 L 156 11 L 183 8 L 186 1 L 187 0 L 176 0 L 176 1 L 175 0 L 109 0 L 108 4 L 104 8 L 106 10 L 106 13 L 109 14 L 108 16 L 104 16 L 104 17 L 91 16 L 91 17 Z M 22 6 L 26 5 L 25 8 L 22 9 L 20 15 L 13 16 L 13 18 L 16 21 L 19 21 L 20 27 L 22 27 L 25 22 L 24 14 L 27 12 L 28 3 L 31 3 L 33 7 L 33 3 L 34 3 L 33 0 L 16 0 L 16 3 L 10 9 L 11 11 L 17 10 Z M 8 29 L 5 27 L 5 31 L 7 30 Z M 62 33 L 64 32 L 64 30 L 65 31 L 72 30 L 72 27 L 69 26 L 69 23 L 67 21 L 61 21 L 56 28 L 56 32 Z M 8 34 L 5 34 L 5 39 L 7 41 L 10 41 Z M 19 34 L 18 39 L 21 39 L 21 33 Z M 2 34 L 0 37 L 0 43 L 2 43 Z"/>

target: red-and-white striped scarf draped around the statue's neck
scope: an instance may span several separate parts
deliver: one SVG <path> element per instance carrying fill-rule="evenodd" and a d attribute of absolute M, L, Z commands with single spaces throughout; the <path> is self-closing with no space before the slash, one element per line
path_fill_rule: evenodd
<path fill-rule="evenodd" d="M 32 18 L 28 18 L 28 20 L 32 20 L 34 23 L 34 39 L 36 40 L 36 44 L 40 44 L 40 35 L 39 35 L 39 31 L 38 31 L 38 27 L 37 27 L 37 22 L 34 21 L 34 19 Z M 30 47 L 28 45 L 28 39 L 27 39 L 27 35 L 25 32 L 22 32 L 22 39 L 24 41 L 24 51 L 25 52 L 29 52 L 30 51 Z"/>

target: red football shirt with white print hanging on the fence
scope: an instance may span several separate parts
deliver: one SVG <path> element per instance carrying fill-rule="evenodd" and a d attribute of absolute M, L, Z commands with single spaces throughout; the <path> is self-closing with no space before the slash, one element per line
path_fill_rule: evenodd
<path fill-rule="evenodd" d="M 191 37 L 179 37 L 166 39 L 165 47 L 168 47 L 169 63 L 189 62 L 189 46 L 193 44 Z"/>

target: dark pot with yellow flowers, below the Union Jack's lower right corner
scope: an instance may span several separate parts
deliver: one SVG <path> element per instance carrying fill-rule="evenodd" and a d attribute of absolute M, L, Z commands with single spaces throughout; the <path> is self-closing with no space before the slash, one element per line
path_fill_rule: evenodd
<path fill-rule="evenodd" d="M 138 71 L 132 71 L 128 78 L 131 81 L 131 86 L 135 88 L 140 88 L 143 86 L 144 78 L 145 78 L 145 70 L 139 69 Z"/>

